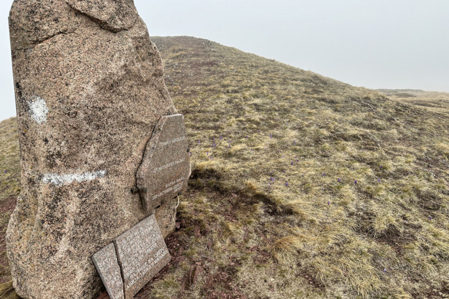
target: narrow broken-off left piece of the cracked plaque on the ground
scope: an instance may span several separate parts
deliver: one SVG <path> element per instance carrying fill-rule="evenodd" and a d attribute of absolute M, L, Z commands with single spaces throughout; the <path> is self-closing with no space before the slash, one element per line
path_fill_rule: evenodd
<path fill-rule="evenodd" d="M 100 274 L 109 297 L 111 299 L 124 299 L 122 274 L 117 255 L 115 254 L 114 244 L 111 243 L 95 253 L 92 261 Z"/>

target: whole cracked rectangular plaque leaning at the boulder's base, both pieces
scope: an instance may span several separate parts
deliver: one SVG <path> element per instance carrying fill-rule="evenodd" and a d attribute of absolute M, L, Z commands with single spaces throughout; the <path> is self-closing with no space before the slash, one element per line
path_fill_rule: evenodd
<path fill-rule="evenodd" d="M 154 215 L 115 238 L 92 257 L 111 299 L 133 298 L 170 259 Z"/>

